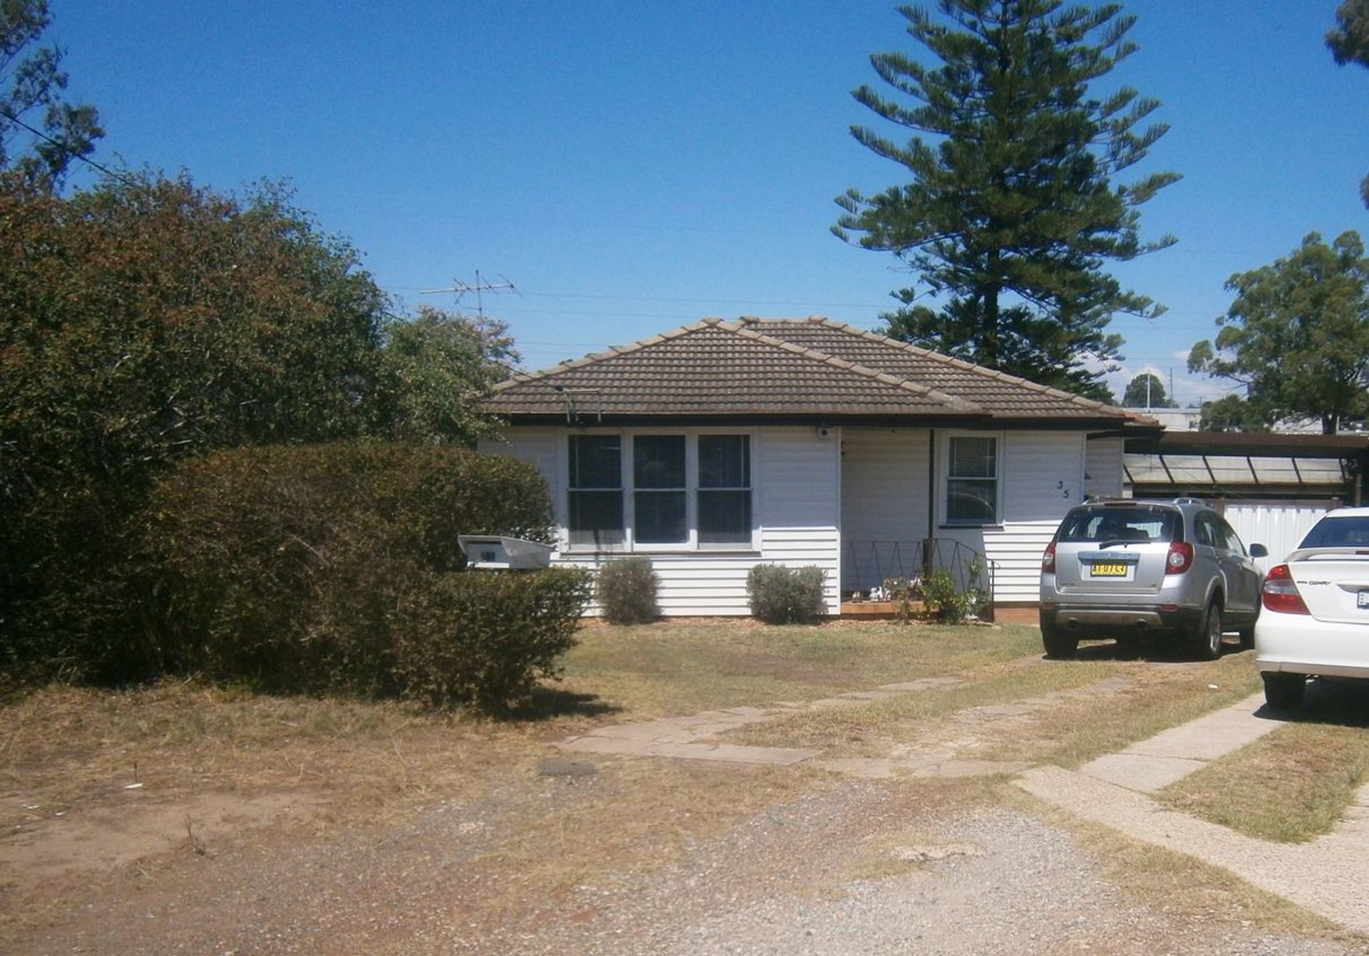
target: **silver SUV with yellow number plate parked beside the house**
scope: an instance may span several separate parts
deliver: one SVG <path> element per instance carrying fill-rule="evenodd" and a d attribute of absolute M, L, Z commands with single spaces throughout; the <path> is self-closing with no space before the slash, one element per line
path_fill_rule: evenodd
<path fill-rule="evenodd" d="M 1040 636 L 1046 654 L 1073 656 L 1084 637 L 1116 637 L 1135 652 L 1149 633 L 1191 640 L 1207 661 L 1221 635 L 1254 640 L 1269 551 L 1240 543 L 1231 525 L 1192 498 L 1077 505 L 1040 561 Z"/>

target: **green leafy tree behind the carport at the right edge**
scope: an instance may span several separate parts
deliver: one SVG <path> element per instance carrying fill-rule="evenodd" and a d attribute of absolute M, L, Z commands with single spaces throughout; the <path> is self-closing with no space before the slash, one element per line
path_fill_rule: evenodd
<path fill-rule="evenodd" d="M 1190 371 L 1244 386 L 1244 399 L 1223 399 L 1224 414 L 1320 419 L 1329 435 L 1369 410 L 1369 258 L 1358 233 L 1329 246 L 1309 233 L 1291 256 L 1231 276 L 1227 289 L 1236 298 L 1216 342 L 1188 353 Z"/>

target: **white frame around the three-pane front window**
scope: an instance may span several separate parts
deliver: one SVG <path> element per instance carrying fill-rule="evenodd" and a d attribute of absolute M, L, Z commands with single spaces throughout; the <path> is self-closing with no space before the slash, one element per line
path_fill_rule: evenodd
<path fill-rule="evenodd" d="M 574 432 L 563 431 L 557 436 L 557 457 L 564 464 L 570 460 L 571 435 L 617 435 L 623 440 L 622 460 L 619 462 L 623 476 L 623 544 L 571 544 L 570 531 L 570 473 L 565 468 L 561 473 L 556 490 L 556 510 L 560 520 L 560 554 L 587 555 L 587 554 L 758 554 L 761 550 L 760 527 L 760 481 L 757 434 L 752 428 L 728 428 L 716 425 L 706 428 L 576 428 Z M 632 461 L 635 453 L 635 438 L 638 435 L 684 435 L 684 524 L 689 539 L 679 543 L 639 544 L 637 542 L 637 486 L 634 483 Z M 750 494 L 752 494 L 752 539 L 735 544 L 701 544 L 698 540 L 698 438 L 701 435 L 746 435 L 750 455 Z M 726 491 L 726 488 L 721 488 Z"/>

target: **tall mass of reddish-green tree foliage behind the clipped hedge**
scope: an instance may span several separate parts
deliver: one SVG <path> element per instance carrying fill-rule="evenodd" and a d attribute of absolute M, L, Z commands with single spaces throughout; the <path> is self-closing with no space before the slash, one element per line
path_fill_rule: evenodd
<path fill-rule="evenodd" d="M 381 435 L 474 440 L 501 330 L 404 326 L 290 197 L 188 176 L 0 187 L 0 672 L 82 673 L 149 606 L 130 517 L 174 462 Z M 486 360 L 489 358 L 489 364 Z M 445 394 L 445 390 L 452 394 Z"/>

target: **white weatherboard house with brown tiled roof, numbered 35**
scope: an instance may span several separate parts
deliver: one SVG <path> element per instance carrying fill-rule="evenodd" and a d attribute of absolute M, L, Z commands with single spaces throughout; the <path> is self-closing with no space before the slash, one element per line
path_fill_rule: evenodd
<path fill-rule="evenodd" d="M 665 614 L 747 614 L 756 563 L 817 565 L 827 610 L 943 566 L 1034 605 L 1084 495 L 1121 495 L 1150 419 L 828 321 L 708 319 L 496 387 L 482 450 L 531 462 L 556 563 L 646 554 Z M 979 576 L 971 581 L 971 576 Z"/>

